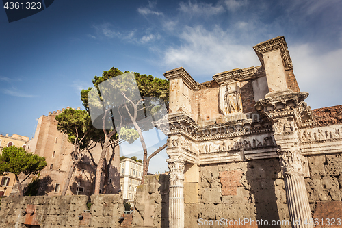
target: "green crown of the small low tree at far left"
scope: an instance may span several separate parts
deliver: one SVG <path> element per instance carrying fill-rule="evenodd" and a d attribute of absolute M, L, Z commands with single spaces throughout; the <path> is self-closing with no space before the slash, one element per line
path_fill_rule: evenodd
<path fill-rule="evenodd" d="M 5 172 L 15 175 L 37 174 L 45 166 L 47 166 L 45 157 L 28 153 L 22 147 L 5 147 L 0 155 L 0 175 Z"/>

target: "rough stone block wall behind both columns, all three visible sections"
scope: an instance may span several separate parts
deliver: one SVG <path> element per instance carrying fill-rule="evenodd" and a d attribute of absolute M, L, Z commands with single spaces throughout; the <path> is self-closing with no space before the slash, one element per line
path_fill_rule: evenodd
<path fill-rule="evenodd" d="M 313 218 L 342 218 L 341 154 L 308 156 L 308 168 Z M 185 203 L 185 227 L 200 227 L 199 218 L 290 221 L 278 158 L 201 165 L 199 171 L 198 203 Z M 146 176 L 135 195 L 133 227 L 168 227 L 168 181 L 168 175 Z"/>

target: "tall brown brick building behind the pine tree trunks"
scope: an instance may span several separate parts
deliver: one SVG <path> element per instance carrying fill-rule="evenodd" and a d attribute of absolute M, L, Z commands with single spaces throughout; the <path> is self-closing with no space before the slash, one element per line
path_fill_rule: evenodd
<path fill-rule="evenodd" d="M 69 108 L 69 107 L 68 107 Z M 62 109 L 62 112 L 64 109 Z M 73 160 L 70 153 L 73 151 L 73 144 L 68 142 L 68 136 L 57 130 L 57 121 L 55 116 L 61 111 L 50 112 L 48 116 L 40 116 L 34 138 L 27 142 L 27 151 L 45 157 L 47 167 L 40 172 L 40 184 L 38 195 L 60 195 L 65 179 Z M 98 162 L 101 155 L 101 144 L 97 144 L 90 152 L 94 161 Z M 110 155 L 107 155 L 109 160 Z M 114 150 L 114 158 L 111 162 L 109 173 L 109 188 L 106 194 L 115 194 L 119 190 L 119 148 Z M 74 170 L 73 177 L 70 180 L 66 195 L 86 194 L 88 196 L 94 193 L 96 166 L 91 161 L 89 154 L 83 157 Z M 101 190 L 103 191 L 104 173 L 101 175 Z M 28 185 L 31 180 L 25 181 Z"/>

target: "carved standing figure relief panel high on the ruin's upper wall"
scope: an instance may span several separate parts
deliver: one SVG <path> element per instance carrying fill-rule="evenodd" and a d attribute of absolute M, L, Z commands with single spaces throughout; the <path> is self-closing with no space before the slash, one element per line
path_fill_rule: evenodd
<path fill-rule="evenodd" d="M 235 84 L 235 90 L 231 88 L 234 84 L 226 84 L 226 86 L 220 87 L 219 103 L 220 111 L 224 114 L 231 114 L 235 112 L 242 112 L 241 105 L 241 90 L 240 87 Z"/>

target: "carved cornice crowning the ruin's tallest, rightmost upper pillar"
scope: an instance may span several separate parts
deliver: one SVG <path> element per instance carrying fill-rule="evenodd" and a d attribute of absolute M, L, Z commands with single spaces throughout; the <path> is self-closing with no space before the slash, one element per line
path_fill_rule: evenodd
<path fill-rule="evenodd" d="M 263 53 L 280 49 L 282 62 L 284 63 L 285 70 L 292 69 L 292 61 L 290 58 L 289 51 L 287 50 L 287 44 L 284 36 L 278 36 L 265 42 L 261 42 L 258 45 L 255 45 L 253 49 L 257 53 L 259 60 L 263 66 L 265 66 L 263 60 Z"/>

